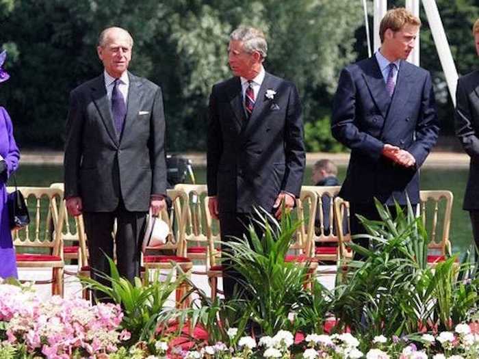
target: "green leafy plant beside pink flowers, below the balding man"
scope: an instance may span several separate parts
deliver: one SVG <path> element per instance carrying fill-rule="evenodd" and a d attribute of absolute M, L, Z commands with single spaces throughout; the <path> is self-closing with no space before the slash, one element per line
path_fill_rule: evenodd
<path fill-rule="evenodd" d="M 155 272 L 153 280 L 148 284 L 143 284 L 140 278 L 135 278 L 134 283 L 131 283 L 120 277 L 111 258 L 108 258 L 108 261 L 111 276 L 100 275 L 111 282 L 111 287 L 92 278 L 80 278 L 81 283 L 89 289 L 105 293 L 116 304 L 122 306 L 125 315 L 122 327 L 131 332 L 129 343 L 151 341 L 159 323 L 168 322 L 174 315 L 174 310 L 168 308 L 166 302 L 185 280 L 185 275 L 181 274 L 174 279 L 172 270 L 164 280 L 159 280 L 159 274 Z M 181 271 L 179 268 L 176 270 Z"/>

